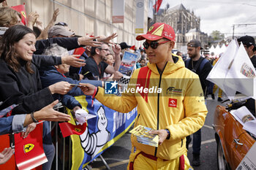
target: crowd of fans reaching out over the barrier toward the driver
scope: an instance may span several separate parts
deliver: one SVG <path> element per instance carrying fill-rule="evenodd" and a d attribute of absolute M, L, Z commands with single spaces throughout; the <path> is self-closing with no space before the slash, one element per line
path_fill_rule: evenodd
<path fill-rule="evenodd" d="M 27 26 L 24 26 L 19 12 L 10 7 L 0 8 L 0 110 L 18 104 L 12 109 L 11 116 L 0 119 L 0 134 L 23 131 L 22 135 L 26 138 L 39 120 L 45 120 L 42 141 L 48 162 L 42 165 L 42 169 L 50 169 L 55 155 L 49 121 L 70 120 L 69 115 L 53 107 L 61 101 L 65 107 L 76 112 L 82 107 L 75 96 L 84 94 L 76 85 L 89 83 L 103 87 L 105 80 L 120 80 L 123 75 L 118 68 L 125 51 L 138 55 L 135 69 L 148 63 L 143 47 L 132 48 L 126 42 L 113 43 L 111 40 L 118 36 L 115 33 L 110 36 L 78 36 L 67 23 L 56 23 L 58 15 L 59 9 L 56 9 L 48 26 L 43 28 L 39 14 L 31 12 Z M 84 53 L 73 55 L 79 47 L 83 47 Z M 200 58 L 199 51 L 200 48 Z M 184 61 L 187 59 L 181 52 L 176 55 Z M 209 63 L 214 65 L 217 60 Z M 211 67 L 208 66 L 208 71 Z M 193 65 L 190 69 L 194 69 Z M 202 85 L 206 89 L 204 95 L 211 94 L 214 99 L 218 87 L 211 82 Z M 222 101 L 221 89 L 218 101 Z M 0 164 L 8 161 L 12 153 L 13 149 L 4 149 L 0 153 Z"/>

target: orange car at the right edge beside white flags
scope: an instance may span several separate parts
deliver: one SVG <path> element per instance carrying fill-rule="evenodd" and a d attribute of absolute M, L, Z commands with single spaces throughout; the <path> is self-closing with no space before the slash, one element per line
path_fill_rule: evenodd
<path fill-rule="evenodd" d="M 219 170 L 236 169 L 255 143 L 255 136 L 243 129 L 243 125 L 230 114 L 227 107 L 217 106 L 213 126 Z"/>

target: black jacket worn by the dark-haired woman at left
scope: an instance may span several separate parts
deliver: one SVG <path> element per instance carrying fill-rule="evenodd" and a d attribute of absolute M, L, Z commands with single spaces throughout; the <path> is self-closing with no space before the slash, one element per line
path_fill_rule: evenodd
<path fill-rule="evenodd" d="M 40 62 L 37 61 L 40 59 L 37 58 L 33 62 L 40 65 Z M 48 61 L 50 63 L 49 57 Z M 33 62 L 31 68 L 34 70 L 34 74 L 29 74 L 25 68 L 26 61 L 20 60 L 20 71 L 14 72 L 4 60 L 0 59 L 0 101 L 8 99 L 7 102 L 4 102 L 5 106 L 1 107 L 19 104 L 12 110 L 12 115 L 34 112 L 53 102 L 50 90 L 42 89 L 39 72 Z"/>

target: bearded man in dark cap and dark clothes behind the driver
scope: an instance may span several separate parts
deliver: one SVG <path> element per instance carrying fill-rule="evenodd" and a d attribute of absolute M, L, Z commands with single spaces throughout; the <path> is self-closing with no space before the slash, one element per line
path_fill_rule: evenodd
<path fill-rule="evenodd" d="M 202 46 L 200 41 L 197 39 L 192 39 L 189 43 L 187 43 L 187 54 L 189 55 L 189 59 L 185 61 L 185 65 L 187 69 L 195 72 L 199 78 L 200 83 L 203 88 L 203 94 L 206 96 L 208 80 L 206 77 L 209 72 L 211 72 L 211 63 L 206 59 L 200 56 L 200 50 L 202 50 Z M 187 149 L 189 142 L 191 142 L 190 136 L 187 136 Z M 193 160 L 192 166 L 200 166 L 200 149 L 201 149 L 201 129 L 199 129 L 195 134 L 193 134 Z"/>

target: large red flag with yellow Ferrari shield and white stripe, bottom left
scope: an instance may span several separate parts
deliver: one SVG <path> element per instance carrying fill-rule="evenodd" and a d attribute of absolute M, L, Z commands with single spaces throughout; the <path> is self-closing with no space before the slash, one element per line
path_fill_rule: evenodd
<path fill-rule="evenodd" d="M 37 124 L 34 131 L 31 131 L 25 139 L 15 134 L 15 160 L 18 169 L 34 169 L 47 162 L 42 147 L 42 123 Z"/>

